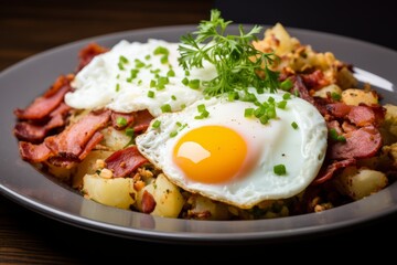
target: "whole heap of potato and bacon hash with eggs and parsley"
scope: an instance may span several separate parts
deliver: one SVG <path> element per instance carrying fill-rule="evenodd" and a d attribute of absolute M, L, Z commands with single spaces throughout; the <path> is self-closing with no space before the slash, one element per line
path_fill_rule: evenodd
<path fill-rule="evenodd" d="M 395 180 L 397 107 L 277 23 L 82 47 L 15 109 L 23 160 L 98 203 L 196 220 L 320 212 Z"/>

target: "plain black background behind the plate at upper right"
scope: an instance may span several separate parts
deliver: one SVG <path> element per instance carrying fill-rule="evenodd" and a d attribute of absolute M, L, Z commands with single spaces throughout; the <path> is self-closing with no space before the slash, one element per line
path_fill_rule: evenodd
<path fill-rule="evenodd" d="M 323 31 L 397 51 L 397 9 L 389 0 L 216 0 L 227 20 Z"/>

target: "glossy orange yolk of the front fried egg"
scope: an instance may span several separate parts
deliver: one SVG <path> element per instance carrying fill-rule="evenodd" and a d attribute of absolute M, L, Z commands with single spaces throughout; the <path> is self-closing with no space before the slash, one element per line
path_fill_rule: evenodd
<path fill-rule="evenodd" d="M 223 126 L 195 128 L 179 139 L 174 162 L 186 178 L 221 183 L 235 178 L 247 156 L 247 144 L 235 130 Z"/>

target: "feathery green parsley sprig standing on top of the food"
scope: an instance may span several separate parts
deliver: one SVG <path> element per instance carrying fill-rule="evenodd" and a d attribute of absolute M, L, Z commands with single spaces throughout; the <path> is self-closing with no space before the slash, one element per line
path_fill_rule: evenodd
<path fill-rule="evenodd" d="M 226 34 L 233 21 L 225 21 L 216 9 L 211 11 L 211 20 L 202 21 L 197 31 L 181 36 L 179 63 L 184 70 L 202 68 L 204 61 L 213 64 L 217 76 L 203 81 L 204 94 L 216 96 L 235 91 L 255 87 L 258 93 L 269 88 L 271 93 L 279 87 L 279 73 L 270 70 L 277 59 L 273 53 L 256 50 L 253 41 L 261 26 L 255 25 L 245 32 L 239 25 L 239 34 Z M 261 77 L 265 76 L 265 77 Z"/>

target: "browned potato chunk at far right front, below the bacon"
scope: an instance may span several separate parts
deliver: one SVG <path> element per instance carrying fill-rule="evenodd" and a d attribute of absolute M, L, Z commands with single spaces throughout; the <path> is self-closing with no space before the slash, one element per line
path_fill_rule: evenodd
<path fill-rule="evenodd" d="M 388 179 L 380 171 L 347 167 L 336 176 L 335 183 L 342 194 L 360 200 L 385 188 Z"/>

